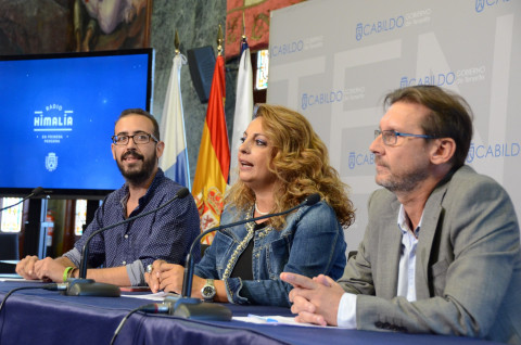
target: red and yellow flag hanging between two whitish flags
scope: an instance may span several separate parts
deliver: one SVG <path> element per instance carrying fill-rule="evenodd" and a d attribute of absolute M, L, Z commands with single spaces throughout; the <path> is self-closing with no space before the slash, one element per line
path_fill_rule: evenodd
<path fill-rule="evenodd" d="M 226 128 L 225 97 L 225 60 L 218 55 L 209 89 L 208 108 L 192 188 L 192 195 L 201 217 L 201 231 L 219 225 L 228 183 L 230 146 Z M 211 244 L 214 235 L 211 233 L 201 242 Z"/>

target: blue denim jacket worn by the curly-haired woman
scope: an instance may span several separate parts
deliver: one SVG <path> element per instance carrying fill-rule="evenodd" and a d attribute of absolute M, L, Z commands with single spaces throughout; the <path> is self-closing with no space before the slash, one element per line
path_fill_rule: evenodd
<path fill-rule="evenodd" d="M 220 223 L 244 219 L 245 216 L 237 215 L 233 207 L 226 207 Z M 230 257 L 246 234 L 245 225 L 216 233 L 212 245 L 195 265 L 194 273 L 205 279 L 223 280 Z M 292 286 L 280 280 L 281 272 L 307 277 L 323 273 L 334 280 L 342 277 L 346 263 L 344 231 L 326 202 L 301 207 L 287 217 L 282 230 L 262 234 L 256 231 L 252 239 L 254 280 L 225 279 L 231 303 L 289 307 L 288 295 Z"/>

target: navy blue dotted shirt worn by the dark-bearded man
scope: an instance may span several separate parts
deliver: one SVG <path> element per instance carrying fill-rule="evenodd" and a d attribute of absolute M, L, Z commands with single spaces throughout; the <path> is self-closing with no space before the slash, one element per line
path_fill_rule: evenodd
<path fill-rule="evenodd" d="M 158 169 L 147 193 L 129 217 L 160 207 L 173 199 L 182 187 L 165 177 Z M 79 266 L 81 251 L 89 235 L 126 219 L 128 186 L 112 192 L 96 210 L 94 219 L 87 227 L 75 247 L 65 253 Z M 199 213 L 191 195 L 170 203 L 156 213 L 106 230 L 90 241 L 89 267 L 126 266 L 132 285 L 145 284 L 144 267 L 156 259 L 185 265 L 188 251 L 200 233 Z M 199 244 L 192 253 L 194 263 L 201 258 Z"/>

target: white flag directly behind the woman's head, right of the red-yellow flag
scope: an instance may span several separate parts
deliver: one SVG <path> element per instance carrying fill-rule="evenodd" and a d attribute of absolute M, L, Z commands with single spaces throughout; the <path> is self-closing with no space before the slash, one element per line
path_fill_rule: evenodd
<path fill-rule="evenodd" d="M 252 60 L 250 59 L 250 48 L 246 38 L 243 37 L 241 43 L 241 61 L 239 63 L 239 73 L 237 76 L 236 93 L 236 113 L 233 115 L 233 131 L 231 135 L 231 166 L 230 184 L 238 178 L 238 158 L 241 138 L 252 120 L 253 115 L 253 71 Z"/>

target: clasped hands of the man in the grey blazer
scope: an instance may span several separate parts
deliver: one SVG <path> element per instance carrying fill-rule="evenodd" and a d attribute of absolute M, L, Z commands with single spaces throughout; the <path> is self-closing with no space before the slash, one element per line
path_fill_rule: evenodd
<path fill-rule="evenodd" d="M 291 311 L 298 314 L 297 322 L 336 325 L 339 304 L 344 290 L 331 278 L 320 274 L 313 279 L 282 272 L 280 279 L 293 285 Z"/>

